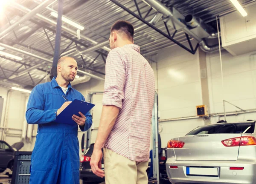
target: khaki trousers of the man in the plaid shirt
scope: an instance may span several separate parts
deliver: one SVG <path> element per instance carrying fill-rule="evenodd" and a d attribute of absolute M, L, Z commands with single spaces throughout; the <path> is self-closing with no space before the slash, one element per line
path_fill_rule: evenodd
<path fill-rule="evenodd" d="M 104 148 L 106 184 L 148 184 L 148 161 L 136 162 Z"/>

